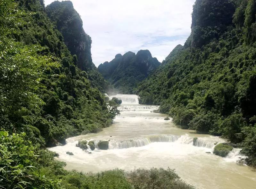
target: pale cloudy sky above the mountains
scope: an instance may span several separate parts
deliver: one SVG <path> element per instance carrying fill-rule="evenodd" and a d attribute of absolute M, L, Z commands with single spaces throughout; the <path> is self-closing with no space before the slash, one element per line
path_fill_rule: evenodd
<path fill-rule="evenodd" d="M 45 6 L 54 0 L 45 0 Z M 162 62 L 191 32 L 195 0 L 71 0 L 92 38 L 96 66 L 148 49 Z"/>

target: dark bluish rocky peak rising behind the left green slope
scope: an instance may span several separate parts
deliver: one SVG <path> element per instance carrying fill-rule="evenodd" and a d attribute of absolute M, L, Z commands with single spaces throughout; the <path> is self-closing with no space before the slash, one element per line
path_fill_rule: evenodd
<path fill-rule="evenodd" d="M 45 8 L 45 11 L 61 32 L 63 41 L 71 55 L 77 56 L 75 64 L 77 64 L 78 68 L 87 72 L 88 79 L 93 87 L 105 92 L 109 84 L 103 79 L 92 62 L 92 39 L 85 33 L 82 19 L 74 9 L 72 2 L 54 1 Z"/>

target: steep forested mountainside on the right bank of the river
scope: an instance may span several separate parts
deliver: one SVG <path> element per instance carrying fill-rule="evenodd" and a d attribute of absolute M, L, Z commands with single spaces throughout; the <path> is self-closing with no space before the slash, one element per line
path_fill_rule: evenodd
<path fill-rule="evenodd" d="M 256 166 L 256 3 L 196 0 L 191 35 L 137 88 L 182 128 L 220 135 Z"/>

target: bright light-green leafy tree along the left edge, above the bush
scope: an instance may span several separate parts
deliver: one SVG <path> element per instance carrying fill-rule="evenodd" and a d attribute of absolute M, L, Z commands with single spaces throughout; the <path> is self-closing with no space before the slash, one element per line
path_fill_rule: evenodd
<path fill-rule="evenodd" d="M 12 39 L 25 24 L 24 12 L 12 0 L 0 2 L 0 118 L 19 110 L 21 106 L 38 107 L 43 101 L 36 91 L 43 87 L 40 80 L 47 67 L 55 67 L 51 57 L 38 54 L 40 45 L 24 45 Z"/>

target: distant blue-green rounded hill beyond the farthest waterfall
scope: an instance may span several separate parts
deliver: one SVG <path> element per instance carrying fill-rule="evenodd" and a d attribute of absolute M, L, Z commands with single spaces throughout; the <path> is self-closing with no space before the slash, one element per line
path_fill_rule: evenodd
<path fill-rule="evenodd" d="M 140 50 L 137 54 L 130 51 L 123 56 L 117 54 L 112 61 L 100 64 L 98 70 L 119 93 L 134 94 L 137 83 L 159 65 L 149 50 Z"/>

